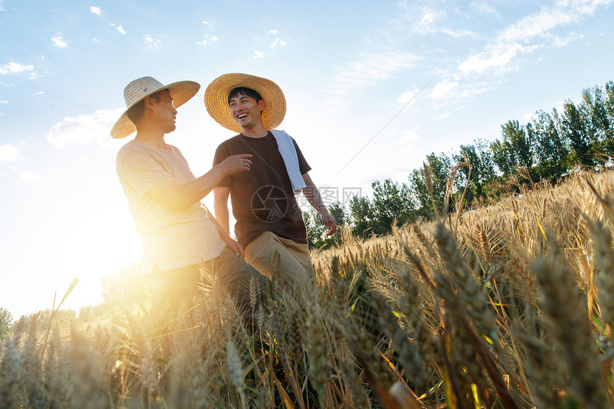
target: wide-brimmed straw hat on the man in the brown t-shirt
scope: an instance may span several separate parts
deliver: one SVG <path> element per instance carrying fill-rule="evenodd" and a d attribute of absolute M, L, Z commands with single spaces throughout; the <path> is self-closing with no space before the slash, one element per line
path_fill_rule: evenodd
<path fill-rule="evenodd" d="M 241 126 L 236 123 L 228 106 L 228 94 L 240 86 L 253 89 L 266 102 L 266 108 L 262 111 L 264 128 L 277 128 L 286 116 L 286 98 L 281 88 L 269 79 L 249 74 L 224 74 L 211 81 L 205 91 L 205 106 L 209 115 L 224 128 L 241 132 Z"/>

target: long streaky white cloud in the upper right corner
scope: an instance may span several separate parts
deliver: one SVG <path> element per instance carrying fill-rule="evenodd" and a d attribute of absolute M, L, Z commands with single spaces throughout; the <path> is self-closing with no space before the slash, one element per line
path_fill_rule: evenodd
<path fill-rule="evenodd" d="M 519 54 L 530 54 L 543 46 L 564 46 L 570 39 L 561 40 L 550 31 L 561 26 L 575 24 L 585 16 L 591 16 L 600 6 L 614 0 L 560 0 L 552 7 L 543 7 L 516 24 L 508 26 L 496 36 L 485 50 L 470 56 L 458 66 L 465 74 L 483 73 L 490 69 L 508 71 L 513 59 Z"/>

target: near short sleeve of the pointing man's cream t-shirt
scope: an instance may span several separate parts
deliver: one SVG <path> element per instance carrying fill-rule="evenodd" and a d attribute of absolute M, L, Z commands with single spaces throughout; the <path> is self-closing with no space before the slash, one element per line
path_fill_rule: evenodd
<path fill-rule="evenodd" d="M 118 157 L 117 173 L 140 196 L 172 177 L 154 157 L 143 151 L 130 151 Z"/>

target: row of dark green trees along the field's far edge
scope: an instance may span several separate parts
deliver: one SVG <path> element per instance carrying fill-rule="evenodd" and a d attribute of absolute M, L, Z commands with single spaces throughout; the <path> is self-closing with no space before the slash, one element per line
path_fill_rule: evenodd
<path fill-rule="evenodd" d="M 537 111 L 529 123 L 510 120 L 500 138 L 477 139 L 451 154 L 431 153 L 407 181 L 375 181 L 373 197 L 354 196 L 333 203 L 331 215 L 354 236 L 368 237 L 419 218 L 431 220 L 459 207 L 498 201 L 523 185 L 559 181 L 574 168 L 605 168 L 614 154 L 614 82 L 584 89 L 580 101 L 560 111 Z M 313 208 L 303 212 L 310 248 L 326 248 L 341 238 L 326 238 Z"/>

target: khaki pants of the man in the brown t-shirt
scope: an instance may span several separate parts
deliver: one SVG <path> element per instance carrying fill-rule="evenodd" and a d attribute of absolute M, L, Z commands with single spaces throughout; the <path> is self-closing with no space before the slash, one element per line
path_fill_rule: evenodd
<path fill-rule="evenodd" d="M 308 271 L 311 271 L 311 256 L 304 243 L 265 231 L 245 248 L 246 260 L 269 280 L 273 279 L 273 271 L 276 270 L 276 262 L 272 259 L 275 253 L 279 254 L 280 281 L 296 281 L 308 277 Z"/>

